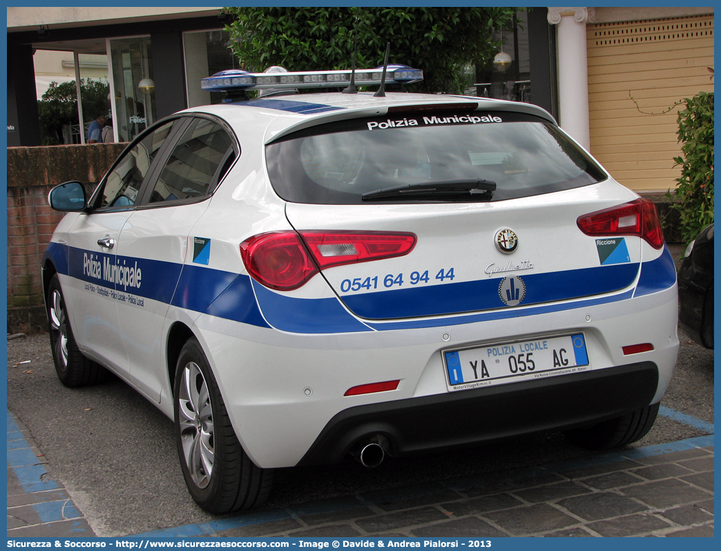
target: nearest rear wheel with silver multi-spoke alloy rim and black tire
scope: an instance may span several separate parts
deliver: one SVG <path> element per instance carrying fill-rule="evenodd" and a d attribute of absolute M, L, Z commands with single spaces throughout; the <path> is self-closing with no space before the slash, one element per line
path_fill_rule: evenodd
<path fill-rule="evenodd" d="M 180 466 L 195 502 L 211 513 L 230 513 L 265 502 L 273 471 L 257 467 L 243 450 L 195 338 L 187 340 L 180 351 L 173 395 Z"/>

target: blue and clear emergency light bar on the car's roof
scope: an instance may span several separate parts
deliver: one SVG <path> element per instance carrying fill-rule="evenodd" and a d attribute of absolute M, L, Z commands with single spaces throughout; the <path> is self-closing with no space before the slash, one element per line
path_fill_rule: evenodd
<path fill-rule="evenodd" d="M 356 69 L 356 86 L 381 84 L 383 68 Z M 423 71 L 405 65 L 389 65 L 386 81 L 411 84 L 423 80 Z M 350 84 L 350 71 L 297 71 L 293 73 L 248 73 L 239 69 L 221 71 L 200 81 L 200 88 L 208 92 L 228 90 L 261 90 L 265 88 L 324 88 L 345 87 Z"/>

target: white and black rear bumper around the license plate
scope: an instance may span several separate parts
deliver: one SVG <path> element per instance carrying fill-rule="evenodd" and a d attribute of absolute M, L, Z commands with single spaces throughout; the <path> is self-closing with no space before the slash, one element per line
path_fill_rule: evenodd
<path fill-rule="evenodd" d="M 676 285 L 572 305 L 534 315 L 515 309 L 490 322 L 451 317 L 431 319 L 430 327 L 334 335 L 278 332 L 205 315 L 197 324 L 242 446 L 259 467 L 275 468 L 335 462 L 358 438 L 381 429 L 389 434 L 390 452 L 406 454 L 569 428 L 658 402 L 678 353 Z M 585 335 L 587 371 L 448 389 L 443 350 L 577 332 Z M 654 349 L 624 354 L 623 346 L 638 343 Z M 386 381 L 399 381 L 397 389 L 344 395 Z"/>

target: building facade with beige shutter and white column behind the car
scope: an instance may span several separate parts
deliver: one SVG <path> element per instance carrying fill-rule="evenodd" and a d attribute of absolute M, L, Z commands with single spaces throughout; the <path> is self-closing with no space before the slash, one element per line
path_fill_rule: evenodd
<path fill-rule="evenodd" d="M 107 111 L 95 113 L 97 102 L 84 108 L 78 85 L 79 113 L 85 126 L 109 116 L 113 141 L 218 102 L 200 79 L 238 68 L 220 7 L 9 7 L 7 14 L 8 146 L 40 145 L 37 89 L 50 78 L 40 61 L 47 52 L 72 54 L 64 64 L 76 82 L 105 78 Z M 497 37 L 508 67 L 477 66 L 466 93 L 540 105 L 627 187 L 673 188 L 677 103 L 713 90 L 713 8 L 534 7 L 517 23 Z M 103 63 L 105 77 L 97 75 Z"/>

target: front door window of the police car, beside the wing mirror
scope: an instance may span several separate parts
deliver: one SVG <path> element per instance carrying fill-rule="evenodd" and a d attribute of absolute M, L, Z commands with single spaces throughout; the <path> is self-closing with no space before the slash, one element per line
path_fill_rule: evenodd
<path fill-rule="evenodd" d="M 174 125 L 180 119 L 171 120 L 144 136 L 133 148 L 125 151 L 105 179 L 99 208 L 133 206 L 138 198 L 141 184 L 158 154 L 160 147 Z"/>

